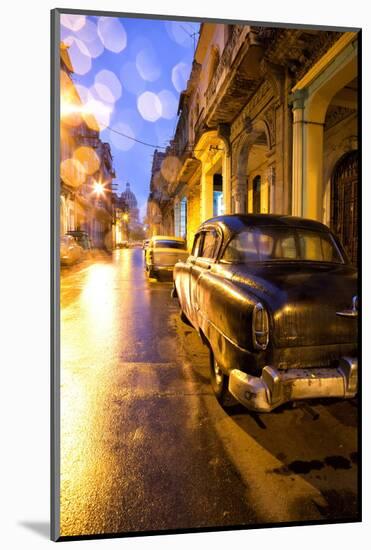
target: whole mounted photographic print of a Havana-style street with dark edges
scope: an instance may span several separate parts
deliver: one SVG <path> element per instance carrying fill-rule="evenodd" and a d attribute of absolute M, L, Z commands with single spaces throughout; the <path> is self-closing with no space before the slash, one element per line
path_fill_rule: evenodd
<path fill-rule="evenodd" d="M 53 540 L 361 520 L 360 56 L 52 11 Z"/>

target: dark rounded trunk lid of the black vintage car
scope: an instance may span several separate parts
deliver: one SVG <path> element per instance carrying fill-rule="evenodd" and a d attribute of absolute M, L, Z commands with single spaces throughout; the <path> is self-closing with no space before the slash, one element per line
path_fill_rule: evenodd
<path fill-rule="evenodd" d="M 275 347 L 322 346 L 357 340 L 351 310 L 355 268 L 316 262 L 271 262 L 243 268 L 234 280 L 251 287 L 270 313 Z M 340 315 L 339 315 L 340 313 Z"/>

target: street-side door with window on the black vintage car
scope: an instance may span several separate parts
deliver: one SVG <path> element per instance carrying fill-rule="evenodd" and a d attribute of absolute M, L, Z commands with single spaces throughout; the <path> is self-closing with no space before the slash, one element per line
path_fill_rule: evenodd
<path fill-rule="evenodd" d="M 202 275 L 207 273 L 215 263 L 215 258 L 221 243 L 221 235 L 214 227 L 207 228 L 201 232 L 200 246 L 197 250 L 197 256 L 193 258 L 190 275 L 190 302 L 194 314 L 194 321 L 199 327 L 199 314 L 204 315 L 205 312 L 200 312 L 199 288 Z"/>

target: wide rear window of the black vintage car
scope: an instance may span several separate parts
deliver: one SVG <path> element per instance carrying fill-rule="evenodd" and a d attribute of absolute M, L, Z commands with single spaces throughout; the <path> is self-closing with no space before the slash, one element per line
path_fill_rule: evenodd
<path fill-rule="evenodd" d="M 229 242 L 228 262 L 312 261 L 344 263 L 330 233 L 301 228 L 251 228 Z"/>

